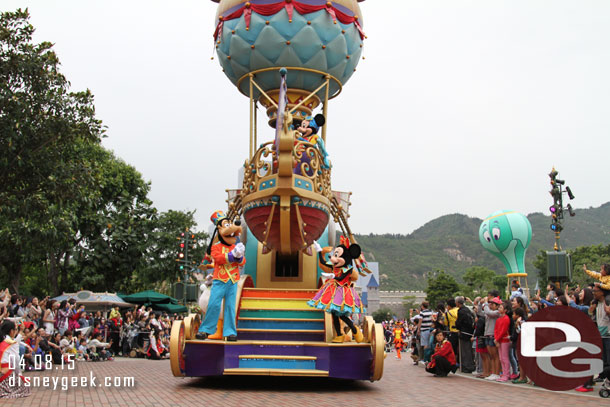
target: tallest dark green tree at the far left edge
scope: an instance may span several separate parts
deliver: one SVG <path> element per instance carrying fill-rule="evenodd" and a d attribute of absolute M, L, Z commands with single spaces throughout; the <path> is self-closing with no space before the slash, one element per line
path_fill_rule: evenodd
<path fill-rule="evenodd" d="M 0 268 L 14 292 L 24 265 L 65 244 L 70 202 L 95 184 L 82 149 L 104 133 L 93 95 L 68 92 L 52 44 L 33 32 L 27 10 L 0 14 Z"/>

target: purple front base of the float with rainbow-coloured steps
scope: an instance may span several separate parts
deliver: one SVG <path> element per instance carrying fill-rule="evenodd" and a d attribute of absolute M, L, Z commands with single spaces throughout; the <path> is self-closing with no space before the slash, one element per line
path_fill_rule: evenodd
<path fill-rule="evenodd" d="M 180 338 L 181 332 L 188 337 L 182 342 L 182 352 L 177 352 L 174 374 L 379 380 L 383 370 L 383 334 L 373 333 L 372 318 L 366 317 L 370 319 L 370 329 L 365 328 L 368 332 L 365 342 L 331 343 L 330 316 L 307 305 L 316 291 L 243 287 L 238 300 L 235 342 L 195 339 L 198 325 L 189 318 L 175 324 L 172 337 Z M 373 338 L 377 338 L 379 346 Z M 180 349 L 180 341 L 174 346 Z"/>

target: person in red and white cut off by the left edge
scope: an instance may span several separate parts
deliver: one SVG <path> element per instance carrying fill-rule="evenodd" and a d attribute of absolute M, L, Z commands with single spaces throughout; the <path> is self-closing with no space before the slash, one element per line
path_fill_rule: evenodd
<path fill-rule="evenodd" d="M 0 399 L 27 397 L 30 395 L 30 388 L 25 385 L 27 379 L 19 370 L 21 332 L 17 332 L 13 321 L 2 323 L 0 340 Z"/>

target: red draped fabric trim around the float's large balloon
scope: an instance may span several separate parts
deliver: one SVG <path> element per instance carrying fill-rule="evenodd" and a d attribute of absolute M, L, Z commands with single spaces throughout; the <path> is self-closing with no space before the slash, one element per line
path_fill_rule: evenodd
<path fill-rule="evenodd" d="M 360 33 L 360 38 L 365 38 L 364 31 L 362 31 L 362 26 L 358 22 L 358 19 L 355 16 L 350 16 L 348 14 L 343 13 L 332 5 L 322 4 L 314 6 L 311 4 L 300 3 L 295 0 L 281 0 L 273 4 L 244 3 L 243 7 L 240 7 L 239 9 L 233 11 L 231 14 L 228 14 L 226 16 L 220 16 L 218 19 L 218 24 L 216 25 L 216 30 L 214 30 L 214 41 L 218 40 L 218 36 L 220 35 L 222 27 L 224 25 L 223 23 L 227 20 L 233 20 L 243 15 L 244 19 L 246 20 L 246 27 L 250 28 L 250 19 L 252 17 L 253 11 L 263 16 L 271 16 L 278 13 L 283 8 L 286 9 L 286 12 L 288 13 L 288 18 L 290 20 L 292 20 L 293 9 L 301 15 L 314 13 L 316 11 L 326 9 L 328 14 L 332 17 L 333 21 L 336 22 L 337 20 L 339 20 L 343 24 L 354 24 L 358 29 L 358 32 Z"/>

